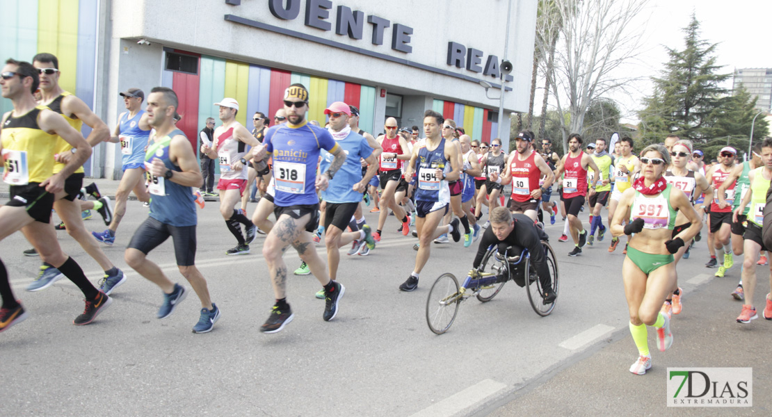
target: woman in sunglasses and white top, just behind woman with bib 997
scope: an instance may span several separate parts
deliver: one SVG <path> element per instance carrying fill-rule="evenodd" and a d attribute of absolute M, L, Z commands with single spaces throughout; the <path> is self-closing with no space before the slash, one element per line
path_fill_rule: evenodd
<path fill-rule="evenodd" d="M 665 170 L 665 180 L 672 184 L 673 187 L 682 190 L 686 197 L 689 198 L 689 202 L 694 205 L 695 196 L 699 196 L 703 191 L 707 190 L 709 185 L 702 173 L 694 170 L 689 170 L 689 156 L 692 154 L 692 142 L 689 140 L 678 140 L 671 147 L 670 159 L 672 164 Z M 699 214 L 698 214 L 699 216 Z M 699 217 L 702 219 L 702 217 Z M 673 228 L 672 237 L 681 233 L 691 225 L 691 222 L 681 211 L 678 212 L 675 217 L 675 227 Z M 689 240 L 691 241 L 691 240 Z M 678 265 L 678 262 L 684 257 L 684 254 L 689 251 L 689 245 L 686 244 L 679 249 L 678 252 L 673 254 L 673 263 Z M 665 304 L 662 305 L 663 311 L 671 311 L 673 314 L 680 314 L 682 310 L 682 288 L 678 286 L 678 275 L 675 276 L 675 284 L 672 288 L 672 295 L 665 298 Z"/>

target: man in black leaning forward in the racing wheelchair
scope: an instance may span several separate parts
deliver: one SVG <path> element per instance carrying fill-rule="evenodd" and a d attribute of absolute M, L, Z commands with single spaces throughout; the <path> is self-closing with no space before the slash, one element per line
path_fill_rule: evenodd
<path fill-rule="evenodd" d="M 557 297 L 552 289 L 550 271 L 547 268 L 547 255 L 544 254 L 542 240 L 547 240 L 544 233 L 533 220 L 525 214 L 510 214 L 506 207 L 496 207 L 490 211 L 490 227 L 488 227 L 477 248 L 475 261 L 472 267 L 479 267 L 482 257 L 488 251 L 488 247 L 496 244 L 499 254 L 504 254 L 506 248 L 524 247 L 530 252 L 530 265 L 539 275 L 541 287 L 544 290 L 544 304 L 550 304 Z"/>

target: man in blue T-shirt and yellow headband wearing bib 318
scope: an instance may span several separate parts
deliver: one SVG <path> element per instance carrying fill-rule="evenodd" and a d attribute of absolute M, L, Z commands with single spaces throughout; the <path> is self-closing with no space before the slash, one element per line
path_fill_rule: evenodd
<path fill-rule="evenodd" d="M 282 255 L 293 245 L 297 253 L 324 287 L 327 304 L 323 319 L 330 321 L 337 314 L 337 301 L 343 295 L 343 286 L 330 280 L 327 266 L 314 249 L 311 232 L 319 225 L 318 190 L 326 190 L 346 161 L 346 153 L 335 143 L 327 130 L 306 123 L 308 90 L 302 84 L 293 84 L 284 92 L 284 110 L 288 123 L 268 129 L 266 139 L 252 153 L 253 161 L 273 156 L 273 180 L 276 187 L 274 204 L 276 226 L 266 236 L 262 254 L 271 274 L 276 304 L 260 331 L 276 333 L 292 321 L 293 312 L 286 302 L 287 267 Z M 330 168 L 317 173 L 320 150 L 333 155 Z"/>

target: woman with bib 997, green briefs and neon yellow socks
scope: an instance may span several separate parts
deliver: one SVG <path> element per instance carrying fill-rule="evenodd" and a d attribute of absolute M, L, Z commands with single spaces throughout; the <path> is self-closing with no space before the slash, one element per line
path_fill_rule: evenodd
<path fill-rule="evenodd" d="M 622 264 L 622 280 L 630 315 L 630 333 L 638 347 L 638 360 L 630 367 L 630 372 L 636 375 L 644 375 L 652 368 L 647 325 L 657 329 L 660 351 L 672 345 L 670 314 L 663 313 L 660 308 L 675 285 L 673 254 L 702 227 L 686 194 L 662 177 L 671 163 L 665 146 L 646 146 L 640 162 L 642 175 L 631 189 L 622 193 L 619 210 L 611 221 L 611 234 L 632 235 Z M 623 226 L 622 220 L 628 211 L 631 221 Z M 673 237 L 678 212 L 684 214 L 690 224 Z"/>

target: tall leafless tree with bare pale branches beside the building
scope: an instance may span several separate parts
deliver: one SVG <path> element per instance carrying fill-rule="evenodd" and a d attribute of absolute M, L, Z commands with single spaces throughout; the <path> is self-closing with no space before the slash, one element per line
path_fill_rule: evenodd
<path fill-rule="evenodd" d="M 618 76 L 621 66 L 640 50 L 641 31 L 632 19 L 645 7 L 636 0 L 552 0 L 559 18 L 559 40 L 554 50 L 554 71 L 547 73 L 557 103 L 564 150 L 570 133 L 582 133 L 590 104 L 617 89 L 630 77 Z M 538 28 L 538 25 L 537 25 Z M 537 39 L 549 39 L 543 33 Z M 547 61 L 549 57 L 547 56 Z M 542 59 L 543 60 L 543 59 Z M 544 61 L 544 60 L 543 60 Z M 568 117 L 566 117 L 568 116 Z"/>

